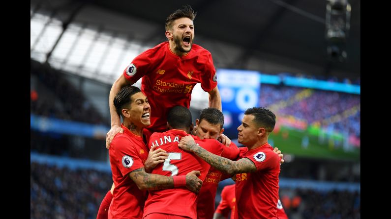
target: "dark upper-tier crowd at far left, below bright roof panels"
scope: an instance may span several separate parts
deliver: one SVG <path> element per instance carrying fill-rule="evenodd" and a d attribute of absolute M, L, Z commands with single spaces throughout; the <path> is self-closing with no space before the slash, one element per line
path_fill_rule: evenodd
<path fill-rule="evenodd" d="M 57 70 L 31 61 L 30 73 L 39 84 L 30 91 L 31 113 L 69 121 L 108 124 L 83 94 Z"/>

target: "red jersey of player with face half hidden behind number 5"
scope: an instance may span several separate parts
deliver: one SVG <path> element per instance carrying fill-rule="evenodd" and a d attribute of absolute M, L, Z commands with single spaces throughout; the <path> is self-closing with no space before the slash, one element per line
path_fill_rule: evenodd
<path fill-rule="evenodd" d="M 224 151 L 222 157 L 236 160 L 239 156 L 240 148 L 233 142 L 229 147 L 223 146 Z M 222 178 L 223 177 L 223 178 Z M 221 180 L 230 178 L 227 174 L 223 174 L 220 170 L 211 167 L 208 174 L 202 183 L 197 202 L 197 219 L 211 219 L 214 212 L 214 198 L 216 196 L 218 183 Z"/>

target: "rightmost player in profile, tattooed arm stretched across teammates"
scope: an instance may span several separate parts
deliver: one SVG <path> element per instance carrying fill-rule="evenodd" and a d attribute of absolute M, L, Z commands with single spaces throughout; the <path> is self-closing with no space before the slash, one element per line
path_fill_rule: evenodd
<path fill-rule="evenodd" d="M 236 174 L 236 219 L 277 218 L 281 158 L 268 144 L 274 125 L 275 115 L 270 110 L 262 107 L 247 109 L 242 124 L 238 127 L 238 142 L 248 150 L 238 161 L 208 152 L 196 145 L 191 136 L 182 137 L 178 144 L 180 148 L 194 152 L 214 168 Z"/>

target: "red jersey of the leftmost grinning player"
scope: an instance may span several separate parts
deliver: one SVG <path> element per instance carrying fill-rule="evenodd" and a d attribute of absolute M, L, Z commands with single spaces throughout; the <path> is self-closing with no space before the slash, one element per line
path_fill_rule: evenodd
<path fill-rule="evenodd" d="M 140 191 L 128 174 L 144 167 L 148 150 L 141 136 L 137 136 L 121 125 L 109 149 L 110 166 L 113 173 L 114 192 L 109 219 L 142 219 L 147 192 Z"/>

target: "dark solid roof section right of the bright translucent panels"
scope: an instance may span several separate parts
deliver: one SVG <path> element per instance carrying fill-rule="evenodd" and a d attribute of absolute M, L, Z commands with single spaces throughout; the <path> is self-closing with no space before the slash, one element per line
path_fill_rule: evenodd
<path fill-rule="evenodd" d="M 326 0 L 95 0 L 94 4 L 163 24 L 184 2 L 198 11 L 196 34 L 245 48 L 238 62 L 248 58 L 248 53 L 261 51 L 360 73 L 360 0 L 349 0 L 352 12 L 346 41 L 348 60 L 329 64 Z"/>

